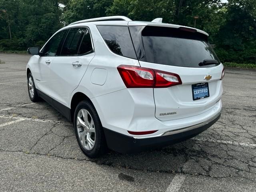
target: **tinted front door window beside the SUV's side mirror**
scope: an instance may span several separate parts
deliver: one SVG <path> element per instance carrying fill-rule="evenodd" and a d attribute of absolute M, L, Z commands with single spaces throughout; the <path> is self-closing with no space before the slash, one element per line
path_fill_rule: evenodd
<path fill-rule="evenodd" d="M 54 35 L 44 46 L 43 56 L 56 56 L 60 53 L 67 30 L 63 30 Z"/>

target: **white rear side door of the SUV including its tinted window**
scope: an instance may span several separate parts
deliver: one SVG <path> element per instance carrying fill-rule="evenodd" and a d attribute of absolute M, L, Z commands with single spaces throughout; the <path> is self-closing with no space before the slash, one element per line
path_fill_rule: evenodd
<path fill-rule="evenodd" d="M 50 66 L 50 89 L 54 100 L 68 106 L 72 91 L 77 88 L 93 57 L 89 28 L 70 28 L 60 54 Z"/>

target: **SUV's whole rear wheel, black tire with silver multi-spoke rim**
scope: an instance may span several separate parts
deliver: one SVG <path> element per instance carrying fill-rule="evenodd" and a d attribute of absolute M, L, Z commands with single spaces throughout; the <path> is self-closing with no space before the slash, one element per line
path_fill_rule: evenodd
<path fill-rule="evenodd" d="M 76 106 L 74 130 L 77 142 L 86 156 L 95 158 L 106 152 L 107 146 L 102 124 L 91 102 L 82 101 Z"/>

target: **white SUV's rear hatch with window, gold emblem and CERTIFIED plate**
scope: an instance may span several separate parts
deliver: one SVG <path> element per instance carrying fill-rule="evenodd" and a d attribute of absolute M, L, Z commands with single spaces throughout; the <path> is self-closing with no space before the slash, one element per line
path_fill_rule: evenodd
<path fill-rule="evenodd" d="M 154 88 L 155 116 L 167 121 L 202 114 L 222 96 L 223 65 L 206 33 L 186 27 L 129 26 L 140 66 L 178 74 L 182 84 Z"/>

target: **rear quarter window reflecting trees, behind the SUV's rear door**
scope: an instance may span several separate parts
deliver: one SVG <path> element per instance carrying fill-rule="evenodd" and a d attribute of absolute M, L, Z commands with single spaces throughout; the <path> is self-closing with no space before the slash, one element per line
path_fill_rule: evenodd
<path fill-rule="evenodd" d="M 137 59 L 127 26 L 97 26 L 112 52 Z"/>

